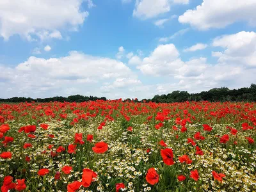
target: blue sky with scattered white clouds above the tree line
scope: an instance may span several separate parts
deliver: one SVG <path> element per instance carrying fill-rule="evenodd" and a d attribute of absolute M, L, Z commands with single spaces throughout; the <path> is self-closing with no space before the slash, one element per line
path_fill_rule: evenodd
<path fill-rule="evenodd" d="M 256 83 L 255 0 L 1 0 L 0 98 Z"/>

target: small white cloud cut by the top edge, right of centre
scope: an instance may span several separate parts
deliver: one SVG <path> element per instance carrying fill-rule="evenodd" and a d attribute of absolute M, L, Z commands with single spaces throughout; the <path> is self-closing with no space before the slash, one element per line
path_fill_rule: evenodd
<path fill-rule="evenodd" d="M 173 3 L 187 4 L 188 2 L 189 0 L 136 0 L 133 16 L 140 19 L 150 19 L 170 12 Z"/>

